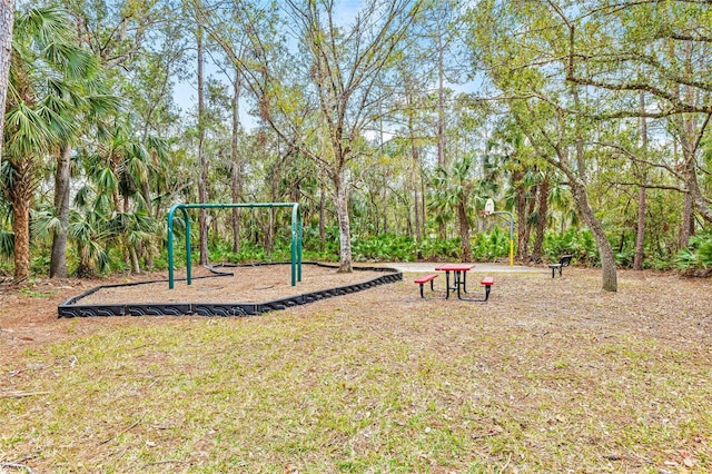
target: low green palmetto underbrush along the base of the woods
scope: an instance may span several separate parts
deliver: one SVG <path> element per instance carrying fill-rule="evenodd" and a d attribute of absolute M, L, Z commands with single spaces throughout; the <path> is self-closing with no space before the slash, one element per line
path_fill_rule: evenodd
<path fill-rule="evenodd" d="M 6 236 L 7 239 L 7 236 Z M 186 261 L 185 237 L 180 229 L 176 230 L 174 247 L 174 266 L 182 267 Z M 192 239 L 191 259 L 198 261 L 199 251 L 196 237 Z M 267 247 L 263 241 L 244 238 L 240 250 L 233 251 L 231 243 L 221 239 L 209 241 L 210 263 L 255 263 L 255 261 L 288 261 L 291 259 L 290 227 L 280 228 L 274 236 L 274 243 Z M 305 227 L 303 235 L 304 261 L 338 261 L 338 229 L 329 227 L 320 236 L 317 228 Z M 486 233 L 475 233 L 471 237 L 472 260 L 503 261 L 508 259 L 510 235 L 501 228 L 493 228 Z M 533 243 L 530 243 L 532 245 Z M 630 235 L 621 236 L 619 243 L 611 243 L 614 247 L 616 264 L 621 268 L 631 268 L 635 249 L 634 239 Z M 530 248 L 531 251 L 531 248 Z M 3 255 L 3 254 L 0 254 Z M 149 268 L 147 254 L 140 259 L 141 268 L 147 270 L 166 270 L 168 268 L 167 248 L 151 253 L 152 267 Z M 379 235 L 352 236 L 352 255 L 354 261 L 453 261 L 462 258 L 459 238 L 441 238 L 436 234 L 428 234 L 422 240 L 414 237 L 399 236 L 393 233 Z M 578 266 L 599 267 L 601 265 L 599 249 L 593 234 L 586 229 L 568 229 L 563 233 L 547 233 L 543 243 L 545 261 L 557 261 L 562 255 L 573 255 L 573 263 Z M 76 271 L 78 258 L 76 249 L 68 249 L 68 266 Z M 128 256 L 117 248 L 97 254 L 93 267 L 85 268 L 92 275 L 107 276 L 116 273 L 130 271 Z M 34 249 L 31 261 L 32 275 L 47 276 L 50 266 L 50 248 Z M 712 233 L 700 233 L 690 239 L 690 245 L 679 253 L 672 250 L 645 248 L 645 268 L 655 270 L 678 269 L 686 275 L 706 275 L 712 268 Z M 0 275 L 11 275 L 11 254 L 0 257 Z"/>

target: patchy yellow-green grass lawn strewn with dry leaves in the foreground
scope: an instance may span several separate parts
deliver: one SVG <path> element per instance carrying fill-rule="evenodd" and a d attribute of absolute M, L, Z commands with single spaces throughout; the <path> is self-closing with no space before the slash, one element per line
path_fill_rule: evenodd
<path fill-rule="evenodd" d="M 710 282 L 503 275 L 475 304 L 411 279 L 261 317 L 52 322 L 2 366 L 0 463 L 712 471 Z"/>

